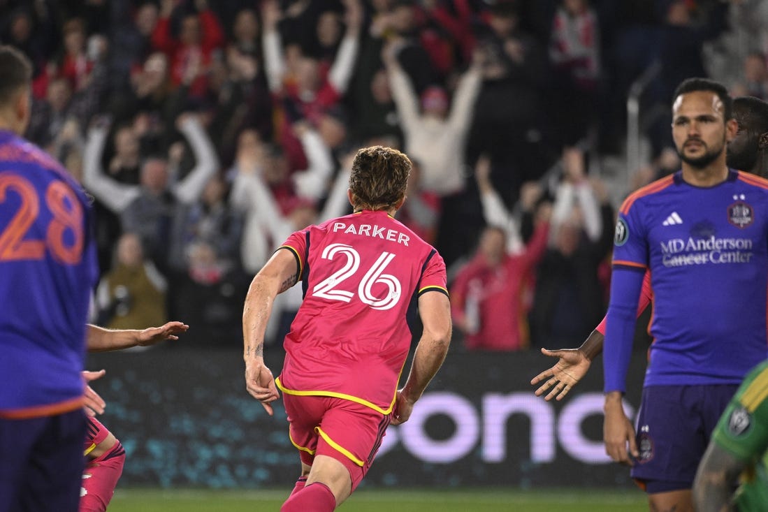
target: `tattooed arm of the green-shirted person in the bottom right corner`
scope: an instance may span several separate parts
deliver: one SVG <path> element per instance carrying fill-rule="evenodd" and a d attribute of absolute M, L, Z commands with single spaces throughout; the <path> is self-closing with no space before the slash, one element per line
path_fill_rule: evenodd
<path fill-rule="evenodd" d="M 731 503 L 733 482 L 746 467 L 717 442 L 710 442 L 694 480 L 694 507 L 700 512 L 734 510 Z"/>

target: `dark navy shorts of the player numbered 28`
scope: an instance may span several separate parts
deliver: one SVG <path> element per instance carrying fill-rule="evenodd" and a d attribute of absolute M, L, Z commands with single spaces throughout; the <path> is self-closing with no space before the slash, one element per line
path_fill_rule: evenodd
<path fill-rule="evenodd" d="M 85 415 L 0 419 L 0 512 L 77 512 Z"/>

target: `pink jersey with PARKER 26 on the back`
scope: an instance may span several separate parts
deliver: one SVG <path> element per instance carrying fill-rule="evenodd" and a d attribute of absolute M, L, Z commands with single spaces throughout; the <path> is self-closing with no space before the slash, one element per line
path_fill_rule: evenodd
<path fill-rule="evenodd" d="M 310 226 L 280 249 L 296 256 L 304 301 L 284 341 L 278 386 L 389 414 L 419 296 L 448 294 L 442 257 L 383 211 Z"/>

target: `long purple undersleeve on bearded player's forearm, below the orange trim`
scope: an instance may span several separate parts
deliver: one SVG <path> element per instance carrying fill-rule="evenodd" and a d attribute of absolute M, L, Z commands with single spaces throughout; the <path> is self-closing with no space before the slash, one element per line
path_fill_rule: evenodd
<path fill-rule="evenodd" d="M 611 276 L 611 302 L 608 305 L 603 345 L 603 391 L 626 388 L 627 368 L 632 355 L 637 302 L 643 286 L 643 269 L 614 266 Z"/>

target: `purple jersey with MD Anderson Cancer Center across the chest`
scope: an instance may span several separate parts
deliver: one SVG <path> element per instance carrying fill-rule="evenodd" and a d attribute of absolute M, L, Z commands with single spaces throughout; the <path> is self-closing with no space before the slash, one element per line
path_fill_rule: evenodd
<path fill-rule="evenodd" d="M 624 201 L 614 247 L 605 391 L 624 391 L 646 269 L 654 293 L 654 343 L 645 385 L 740 383 L 768 353 L 768 181 L 729 170 L 723 183 L 694 187 L 678 171 Z"/>

